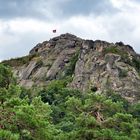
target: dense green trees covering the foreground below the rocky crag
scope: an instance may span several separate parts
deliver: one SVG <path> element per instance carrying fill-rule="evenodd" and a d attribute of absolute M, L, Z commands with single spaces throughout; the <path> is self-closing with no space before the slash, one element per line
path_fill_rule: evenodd
<path fill-rule="evenodd" d="M 18 86 L 0 65 L 1 140 L 139 140 L 140 103 L 108 91 L 97 95 L 54 80 L 47 87 Z"/>

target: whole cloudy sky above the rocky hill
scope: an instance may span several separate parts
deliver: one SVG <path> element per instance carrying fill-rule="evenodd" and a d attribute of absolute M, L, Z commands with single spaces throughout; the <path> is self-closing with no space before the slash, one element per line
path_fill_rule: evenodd
<path fill-rule="evenodd" d="M 0 60 L 66 32 L 140 53 L 140 0 L 0 0 Z"/>

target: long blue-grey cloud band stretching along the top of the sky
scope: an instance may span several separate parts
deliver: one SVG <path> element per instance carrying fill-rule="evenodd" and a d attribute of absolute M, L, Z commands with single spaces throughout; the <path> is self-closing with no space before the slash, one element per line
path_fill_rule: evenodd
<path fill-rule="evenodd" d="M 68 18 L 116 12 L 109 0 L 0 0 L 0 18 Z"/>

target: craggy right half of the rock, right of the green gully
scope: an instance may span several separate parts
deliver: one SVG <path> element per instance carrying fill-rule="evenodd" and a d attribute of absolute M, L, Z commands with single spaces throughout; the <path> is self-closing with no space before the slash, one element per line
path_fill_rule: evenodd
<path fill-rule="evenodd" d="M 71 86 L 83 91 L 96 89 L 99 93 L 112 89 L 130 102 L 139 100 L 140 76 L 138 72 L 125 62 L 126 60 L 121 56 L 121 53 L 112 53 L 111 50 L 105 53 L 105 50 L 110 47 L 126 54 L 127 61 L 131 61 L 136 55 L 132 48 L 124 49 L 128 46 L 87 40 L 82 45 Z"/>

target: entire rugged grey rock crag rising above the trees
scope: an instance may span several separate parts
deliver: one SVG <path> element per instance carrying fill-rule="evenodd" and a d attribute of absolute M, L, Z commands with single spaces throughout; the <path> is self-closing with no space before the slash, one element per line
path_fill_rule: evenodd
<path fill-rule="evenodd" d="M 73 78 L 68 86 L 105 93 L 112 89 L 130 102 L 140 100 L 140 56 L 129 45 L 83 40 L 69 33 L 39 43 L 28 64 L 14 68 L 26 87 Z"/>

